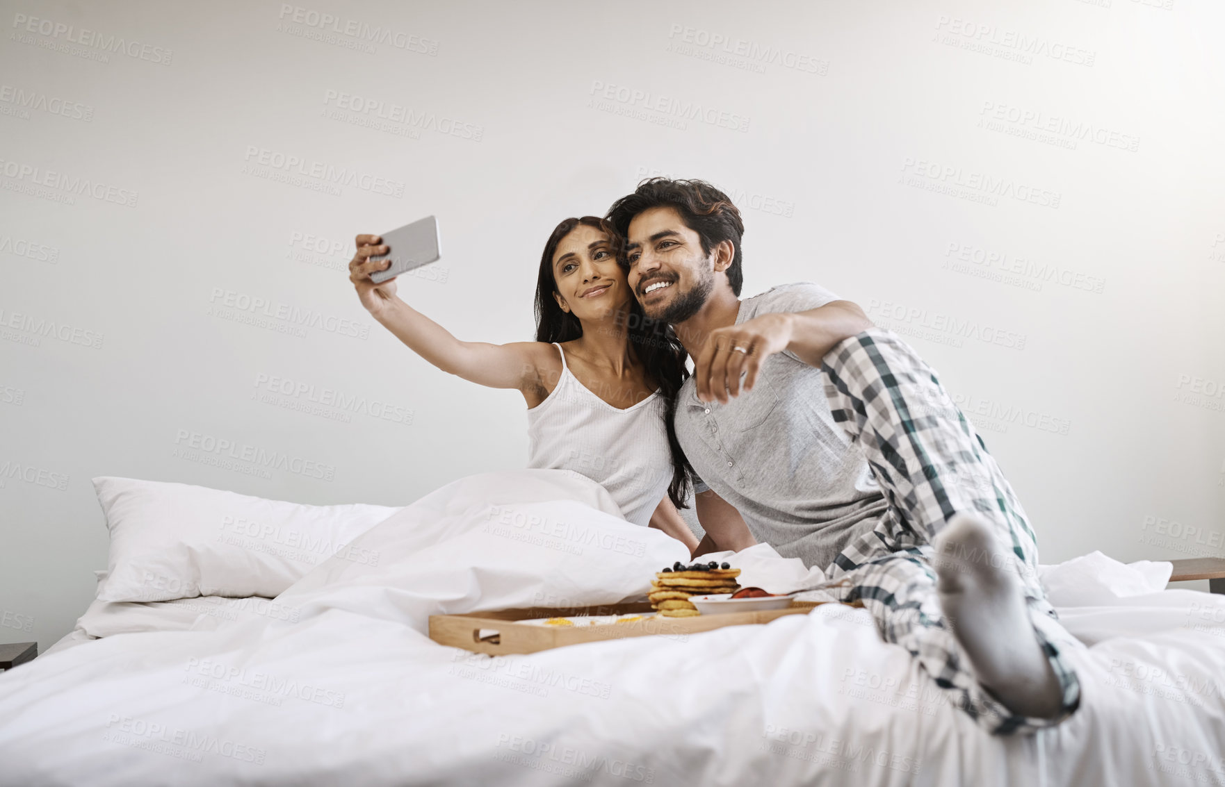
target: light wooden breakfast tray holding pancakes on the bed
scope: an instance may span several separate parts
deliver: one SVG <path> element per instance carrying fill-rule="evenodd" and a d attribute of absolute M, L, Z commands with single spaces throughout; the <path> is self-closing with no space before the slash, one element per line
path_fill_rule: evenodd
<path fill-rule="evenodd" d="M 650 603 L 619 603 L 582 610 L 557 610 L 533 607 L 529 610 L 502 610 L 501 612 L 467 612 L 464 614 L 431 614 L 430 639 L 452 647 L 462 647 L 475 654 L 501 656 L 505 654 L 534 654 L 551 647 L 598 643 L 627 636 L 684 636 L 723 628 L 724 625 L 745 625 L 751 623 L 769 623 L 784 614 L 806 614 L 822 603 L 813 601 L 791 601 L 785 610 L 764 612 L 729 612 L 725 614 L 702 614 L 692 618 L 653 617 L 633 623 L 608 623 L 604 625 L 552 627 L 518 623 L 533 618 L 573 617 L 576 614 L 627 614 L 631 612 L 653 612 Z M 860 603 L 850 606 L 862 606 Z"/>

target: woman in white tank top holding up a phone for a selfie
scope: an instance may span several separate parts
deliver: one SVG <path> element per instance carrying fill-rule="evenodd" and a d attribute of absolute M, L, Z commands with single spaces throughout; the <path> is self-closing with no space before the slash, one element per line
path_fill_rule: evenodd
<path fill-rule="evenodd" d="M 371 282 L 391 264 L 369 259 L 387 253 L 381 242 L 358 235 L 349 263 L 375 319 L 445 372 L 517 388 L 528 406 L 529 468 L 579 472 L 608 490 L 626 520 L 697 550 L 676 510 L 690 488 L 671 428 L 685 351 L 666 324 L 642 315 L 604 219 L 570 218 L 554 229 L 537 277 L 537 340 L 502 345 L 461 341 L 397 297 L 394 279 Z"/>

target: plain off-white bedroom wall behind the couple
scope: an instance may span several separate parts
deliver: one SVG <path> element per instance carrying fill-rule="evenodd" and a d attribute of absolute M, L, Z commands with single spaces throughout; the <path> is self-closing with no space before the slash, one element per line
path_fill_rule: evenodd
<path fill-rule="evenodd" d="M 403 297 L 524 340 L 551 228 L 652 174 L 740 204 L 745 295 L 813 280 L 905 332 L 1042 562 L 1225 554 L 1215 0 L 301 1 L 0 4 L 0 641 L 93 597 L 91 477 L 407 504 L 522 466 L 522 398 L 371 321 L 353 237 L 436 214 Z M 261 299 L 317 321 L 211 311 Z"/>

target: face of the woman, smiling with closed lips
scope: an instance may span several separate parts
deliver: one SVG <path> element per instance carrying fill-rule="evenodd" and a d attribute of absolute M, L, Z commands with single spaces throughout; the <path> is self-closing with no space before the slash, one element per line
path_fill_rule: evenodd
<path fill-rule="evenodd" d="M 586 224 L 557 244 L 552 280 L 557 304 L 579 319 L 603 319 L 633 297 L 609 236 Z"/>

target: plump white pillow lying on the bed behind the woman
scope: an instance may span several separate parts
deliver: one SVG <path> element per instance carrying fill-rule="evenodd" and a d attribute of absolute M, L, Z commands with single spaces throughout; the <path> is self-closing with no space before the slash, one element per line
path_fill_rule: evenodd
<path fill-rule="evenodd" d="M 349 542 L 401 510 L 304 505 L 190 483 L 93 479 L 110 530 L 100 601 L 273 599 L 332 554 L 377 565 Z"/>

